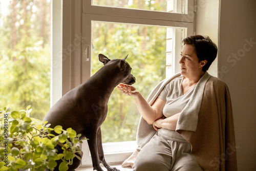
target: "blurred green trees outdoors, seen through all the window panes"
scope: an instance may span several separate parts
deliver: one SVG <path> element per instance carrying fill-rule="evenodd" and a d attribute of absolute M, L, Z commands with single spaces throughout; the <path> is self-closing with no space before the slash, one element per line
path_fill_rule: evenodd
<path fill-rule="evenodd" d="M 0 104 L 17 109 L 32 105 L 31 116 L 42 120 L 50 109 L 50 3 L 41 0 L 15 2 L 14 11 L 13 0 L 9 0 L 7 15 L 0 11 Z M 94 3 L 159 11 L 166 8 L 165 0 L 94 0 Z M 95 47 L 92 74 L 102 67 L 99 53 L 110 59 L 129 54 L 127 61 L 136 77 L 134 86 L 145 98 L 165 78 L 166 28 L 93 22 L 92 30 Z M 114 90 L 108 105 L 109 113 L 101 126 L 102 141 L 135 140 L 140 115 L 133 98 Z"/>

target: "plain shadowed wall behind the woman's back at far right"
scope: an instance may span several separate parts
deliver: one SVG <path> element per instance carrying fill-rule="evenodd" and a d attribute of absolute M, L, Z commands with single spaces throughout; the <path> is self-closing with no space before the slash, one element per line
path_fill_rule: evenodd
<path fill-rule="evenodd" d="M 221 1 L 219 22 L 218 75 L 231 94 L 238 169 L 256 170 L 256 1 Z"/>

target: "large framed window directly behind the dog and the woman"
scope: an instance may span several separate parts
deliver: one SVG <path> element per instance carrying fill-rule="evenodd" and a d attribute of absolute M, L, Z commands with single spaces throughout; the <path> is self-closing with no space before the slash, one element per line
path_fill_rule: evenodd
<path fill-rule="evenodd" d="M 63 1 L 61 4 L 53 1 L 53 103 L 103 66 L 98 61 L 99 53 L 110 59 L 129 54 L 126 60 L 137 78 L 135 86 L 144 97 L 166 75 L 179 72 L 179 67 L 175 66 L 179 61 L 181 40 L 193 34 L 193 2 L 167 1 L 168 5 L 163 5 L 166 9 L 162 10 L 155 10 L 155 7 L 166 1 L 111 1 L 117 2 L 116 6 L 108 2 Z M 120 2 L 126 2 L 125 6 L 118 6 Z M 154 9 L 127 7 L 134 7 L 138 2 L 145 3 L 145 7 L 151 3 Z M 165 10 L 171 12 L 163 12 Z M 55 17 L 63 18 L 55 20 Z M 110 113 L 102 125 L 103 148 L 106 161 L 120 162 L 137 147 L 135 137 L 140 116 L 131 97 L 114 91 L 111 98 Z M 109 129 L 113 129 L 112 136 L 106 136 L 106 132 L 111 132 Z M 82 150 L 82 165 L 91 165 L 86 142 Z"/>

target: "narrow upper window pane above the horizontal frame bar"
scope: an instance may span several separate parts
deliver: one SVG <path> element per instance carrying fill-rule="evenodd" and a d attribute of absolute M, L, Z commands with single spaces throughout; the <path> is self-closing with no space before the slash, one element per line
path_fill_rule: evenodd
<path fill-rule="evenodd" d="M 140 10 L 186 13 L 185 0 L 93 0 L 93 5 L 117 8 L 133 8 Z"/>

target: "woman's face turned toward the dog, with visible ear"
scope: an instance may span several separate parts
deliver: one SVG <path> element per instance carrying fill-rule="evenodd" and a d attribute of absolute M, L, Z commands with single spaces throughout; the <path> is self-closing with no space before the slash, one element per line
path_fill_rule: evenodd
<path fill-rule="evenodd" d="M 198 62 L 196 50 L 192 45 L 185 44 L 182 48 L 181 59 L 181 74 L 189 79 L 198 79 L 204 74 L 202 71 L 206 60 Z"/>

